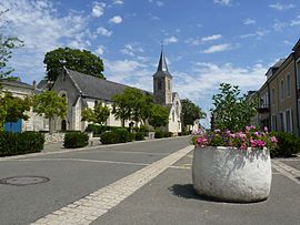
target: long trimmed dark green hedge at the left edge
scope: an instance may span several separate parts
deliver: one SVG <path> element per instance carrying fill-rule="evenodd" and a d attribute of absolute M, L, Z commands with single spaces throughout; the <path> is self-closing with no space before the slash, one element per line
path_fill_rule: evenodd
<path fill-rule="evenodd" d="M 0 156 L 40 152 L 43 149 L 43 144 L 44 136 L 39 132 L 0 132 Z"/>

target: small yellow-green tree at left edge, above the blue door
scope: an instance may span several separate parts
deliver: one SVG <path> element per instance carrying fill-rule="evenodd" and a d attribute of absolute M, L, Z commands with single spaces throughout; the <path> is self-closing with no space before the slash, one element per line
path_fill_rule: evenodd
<path fill-rule="evenodd" d="M 28 120 L 29 115 L 26 111 L 29 111 L 31 101 L 29 98 L 24 100 L 12 96 L 11 93 L 7 93 L 4 96 L 0 96 L 0 131 L 3 130 L 6 122 L 17 122 L 19 119 Z"/>

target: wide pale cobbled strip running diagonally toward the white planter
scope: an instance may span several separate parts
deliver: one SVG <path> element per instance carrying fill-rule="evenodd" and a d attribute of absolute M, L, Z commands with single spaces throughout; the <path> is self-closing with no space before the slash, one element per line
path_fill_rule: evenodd
<path fill-rule="evenodd" d="M 32 225 L 41 224 L 90 224 L 120 202 L 157 177 L 181 157 L 193 150 L 187 146 L 150 165 L 103 187 L 86 197 L 73 202 L 53 213 L 38 219 Z"/>

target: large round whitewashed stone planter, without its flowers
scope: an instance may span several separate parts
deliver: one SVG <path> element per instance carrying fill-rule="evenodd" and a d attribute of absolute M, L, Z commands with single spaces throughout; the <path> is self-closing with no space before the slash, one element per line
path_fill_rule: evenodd
<path fill-rule="evenodd" d="M 194 147 L 193 187 L 224 202 L 259 202 L 270 194 L 272 170 L 267 149 Z"/>

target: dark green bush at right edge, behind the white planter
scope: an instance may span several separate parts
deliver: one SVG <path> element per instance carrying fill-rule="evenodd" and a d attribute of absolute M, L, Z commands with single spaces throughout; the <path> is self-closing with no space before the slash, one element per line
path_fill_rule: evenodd
<path fill-rule="evenodd" d="M 272 157 L 290 157 L 300 152 L 300 139 L 291 133 L 271 132 L 278 140 L 278 146 L 270 150 Z"/>

